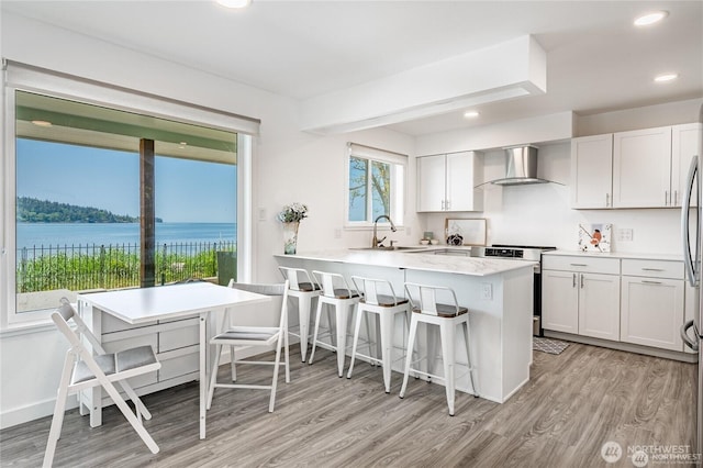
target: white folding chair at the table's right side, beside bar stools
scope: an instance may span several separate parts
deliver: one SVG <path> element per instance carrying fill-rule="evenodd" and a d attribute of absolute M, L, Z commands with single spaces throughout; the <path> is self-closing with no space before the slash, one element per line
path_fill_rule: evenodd
<path fill-rule="evenodd" d="M 210 387 L 208 389 L 208 410 L 212 405 L 212 398 L 215 388 L 230 389 L 255 389 L 270 390 L 271 397 L 268 403 L 269 413 L 274 412 L 276 403 L 276 388 L 278 385 L 278 369 L 281 364 L 281 348 L 284 349 L 283 367 L 286 368 L 286 383 L 290 382 L 289 348 L 288 348 L 288 280 L 282 285 L 248 285 L 230 281 L 230 288 L 242 289 L 244 291 L 256 292 L 265 296 L 276 296 L 281 298 L 281 316 L 278 326 L 231 326 L 225 332 L 217 334 L 210 339 L 211 345 L 215 345 L 212 374 L 210 376 Z M 274 379 L 270 386 L 257 386 L 249 383 L 224 383 L 217 382 L 217 368 L 220 367 L 220 355 L 222 346 L 230 346 L 232 356 L 232 382 L 236 382 L 236 365 L 252 364 L 274 366 Z M 236 359 L 235 346 L 260 346 L 274 347 L 276 358 L 274 360 L 244 360 Z"/>

